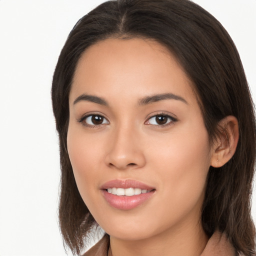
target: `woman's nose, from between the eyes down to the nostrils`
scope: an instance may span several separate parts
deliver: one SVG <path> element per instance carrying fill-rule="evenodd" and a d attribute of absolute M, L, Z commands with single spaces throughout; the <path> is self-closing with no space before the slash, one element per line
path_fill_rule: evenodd
<path fill-rule="evenodd" d="M 129 127 L 112 131 L 105 164 L 119 170 L 139 168 L 145 165 L 143 144 L 139 132 Z"/>

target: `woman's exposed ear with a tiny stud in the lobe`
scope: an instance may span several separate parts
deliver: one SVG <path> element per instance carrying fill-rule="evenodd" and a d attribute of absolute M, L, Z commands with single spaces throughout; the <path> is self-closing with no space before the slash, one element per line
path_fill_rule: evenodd
<path fill-rule="evenodd" d="M 211 166 L 221 167 L 233 156 L 238 138 L 239 127 L 237 119 L 228 115 L 218 123 L 219 134 L 213 145 L 211 156 Z"/>

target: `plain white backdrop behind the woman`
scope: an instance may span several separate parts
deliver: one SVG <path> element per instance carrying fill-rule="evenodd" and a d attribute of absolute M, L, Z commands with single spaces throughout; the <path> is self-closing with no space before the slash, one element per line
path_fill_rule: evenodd
<path fill-rule="evenodd" d="M 256 0 L 194 1 L 230 33 L 255 101 Z M 65 255 L 51 79 L 69 31 L 100 2 L 0 0 L 0 256 Z M 252 200 L 256 220 L 255 189 Z"/>

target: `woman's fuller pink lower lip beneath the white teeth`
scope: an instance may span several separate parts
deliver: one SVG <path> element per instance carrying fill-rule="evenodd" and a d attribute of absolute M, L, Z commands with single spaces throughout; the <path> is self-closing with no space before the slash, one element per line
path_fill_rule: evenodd
<path fill-rule="evenodd" d="M 148 200 L 153 194 L 155 190 L 152 190 L 147 193 L 141 193 L 136 195 L 115 195 L 108 193 L 106 190 L 101 190 L 105 200 L 114 208 L 121 210 L 130 210 L 133 209 L 146 200 Z"/>

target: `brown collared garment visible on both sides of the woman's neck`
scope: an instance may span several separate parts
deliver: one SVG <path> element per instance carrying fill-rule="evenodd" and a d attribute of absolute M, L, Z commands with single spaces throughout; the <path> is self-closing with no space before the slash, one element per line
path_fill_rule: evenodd
<path fill-rule="evenodd" d="M 107 256 L 109 248 L 109 236 L 104 235 L 93 247 L 82 256 Z M 235 256 L 235 250 L 224 234 L 215 232 L 208 240 L 200 256 Z M 109 255 L 112 256 L 111 250 Z"/>

